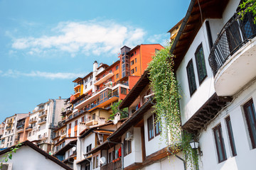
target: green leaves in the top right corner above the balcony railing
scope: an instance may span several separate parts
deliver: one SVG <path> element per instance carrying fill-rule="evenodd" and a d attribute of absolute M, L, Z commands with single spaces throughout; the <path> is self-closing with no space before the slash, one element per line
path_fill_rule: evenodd
<path fill-rule="evenodd" d="M 254 16 L 254 23 L 256 24 L 256 1 L 255 0 L 245 0 L 240 4 L 242 10 L 238 13 L 242 18 L 245 16 L 245 13 L 251 12 Z"/>

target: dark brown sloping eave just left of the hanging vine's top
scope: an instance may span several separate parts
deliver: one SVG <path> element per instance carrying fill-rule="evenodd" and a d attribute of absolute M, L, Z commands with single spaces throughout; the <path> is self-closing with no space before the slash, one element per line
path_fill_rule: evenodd
<path fill-rule="evenodd" d="M 127 108 L 132 105 L 132 103 L 137 99 L 142 90 L 149 84 L 149 71 L 146 70 L 142 77 L 137 81 L 129 94 L 124 98 L 122 103 L 120 103 L 119 108 Z"/>

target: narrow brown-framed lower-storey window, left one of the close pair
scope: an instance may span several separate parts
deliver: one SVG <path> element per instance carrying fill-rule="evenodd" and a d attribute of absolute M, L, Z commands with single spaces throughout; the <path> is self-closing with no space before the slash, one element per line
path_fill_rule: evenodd
<path fill-rule="evenodd" d="M 218 154 L 218 163 L 220 163 L 227 159 L 221 125 L 218 125 L 217 127 L 215 127 L 213 129 L 213 133 L 214 133 L 215 145 L 216 145 L 217 154 Z"/>

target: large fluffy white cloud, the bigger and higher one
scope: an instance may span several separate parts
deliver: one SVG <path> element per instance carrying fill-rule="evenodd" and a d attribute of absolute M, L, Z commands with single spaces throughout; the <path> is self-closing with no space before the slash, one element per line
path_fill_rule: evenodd
<path fill-rule="evenodd" d="M 28 50 L 28 55 L 53 50 L 69 52 L 72 57 L 82 52 L 86 55 L 117 54 L 122 45 L 134 47 L 144 42 L 146 31 L 142 28 L 121 25 L 114 21 L 61 22 L 50 30 L 50 35 L 39 38 L 14 38 L 15 50 Z"/>

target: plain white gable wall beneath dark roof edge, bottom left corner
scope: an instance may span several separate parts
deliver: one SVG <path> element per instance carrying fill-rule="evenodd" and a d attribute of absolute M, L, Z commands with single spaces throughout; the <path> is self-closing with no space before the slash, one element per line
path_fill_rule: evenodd
<path fill-rule="evenodd" d="M 42 154 L 28 146 L 23 146 L 18 149 L 17 152 L 13 154 L 12 159 L 9 159 L 8 162 L 13 164 L 13 170 L 64 170 L 63 167 L 50 159 L 46 159 Z"/>

